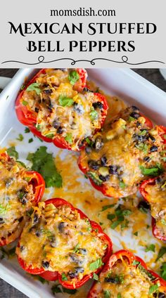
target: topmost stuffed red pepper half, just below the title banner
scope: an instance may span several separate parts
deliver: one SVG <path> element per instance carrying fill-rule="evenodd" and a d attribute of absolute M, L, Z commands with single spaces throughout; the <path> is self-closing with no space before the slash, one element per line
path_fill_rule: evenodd
<path fill-rule="evenodd" d="M 42 69 L 18 94 L 18 120 L 59 148 L 80 150 L 106 119 L 105 96 L 87 89 L 87 72 Z"/>

